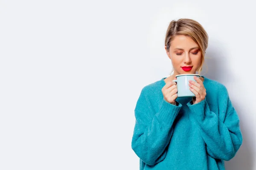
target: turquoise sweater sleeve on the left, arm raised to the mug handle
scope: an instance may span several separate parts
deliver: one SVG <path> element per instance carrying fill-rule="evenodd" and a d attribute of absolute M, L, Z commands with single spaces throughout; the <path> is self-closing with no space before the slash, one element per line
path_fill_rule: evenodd
<path fill-rule="evenodd" d="M 134 110 L 136 122 L 131 146 L 137 156 L 151 166 L 165 159 L 172 125 L 182 106 L 172 105 L 165 99 L 160 102 L 159 111 L 154 113 L 142 91 Z"/>

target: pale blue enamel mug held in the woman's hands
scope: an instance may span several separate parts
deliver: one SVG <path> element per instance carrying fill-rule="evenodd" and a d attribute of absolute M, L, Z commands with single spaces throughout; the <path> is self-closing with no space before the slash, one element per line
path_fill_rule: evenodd
<path fill-rule="evenodd" d="M 178 97 L 195 97 L 195 94 L 189 90 L 189 80 L 196 82 L 194 76 L 201 77 L 199 74 L 178 74 L 175 76 L 177 80 L 172 81 L 177 82 Z"/>

